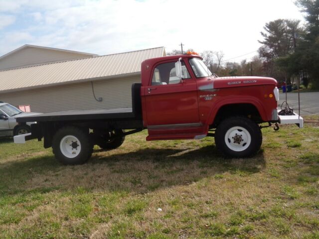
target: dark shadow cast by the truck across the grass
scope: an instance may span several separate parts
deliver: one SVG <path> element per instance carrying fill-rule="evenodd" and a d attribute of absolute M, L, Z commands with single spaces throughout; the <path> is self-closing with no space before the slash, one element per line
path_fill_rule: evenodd
<path fill-rule="evenodd" d="M 146 193 L 186 185 L 224 172 L 250 175 L 265 167 L 263 151 L 245 159 L 224 159 L 212 145 L 201 148 L 145 148 L 106 156 L 94 154 L 84 165 L 65 166 L 53 156 L 3 163 L 0 195 L 52 190 Z"/>

